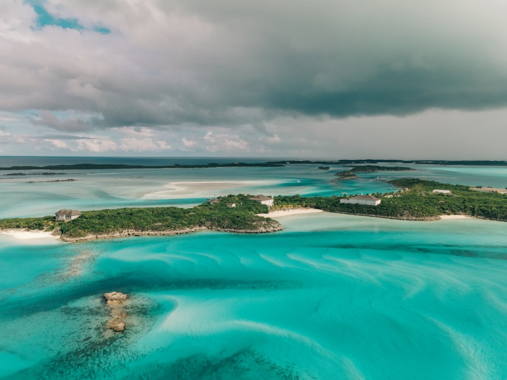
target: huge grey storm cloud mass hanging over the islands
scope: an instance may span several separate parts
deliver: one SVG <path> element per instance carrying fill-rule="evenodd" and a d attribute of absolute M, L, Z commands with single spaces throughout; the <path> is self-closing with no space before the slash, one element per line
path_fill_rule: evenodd
<path fill-rule="evenodd" d="M 507 105 L 503 2 L 44 3 L 80 30 L 34 30 L 37 13 L 12 4 L 21 26 L 0 37 L 11 52 L 0 64 L 0 108 L 41 110 L 34 123 L 57 130 L 262 130 L 280 116 Z M 95 32 L 98 24 L 112 32 Z M 56 110 L 88 116 L 61 120 Z"/>

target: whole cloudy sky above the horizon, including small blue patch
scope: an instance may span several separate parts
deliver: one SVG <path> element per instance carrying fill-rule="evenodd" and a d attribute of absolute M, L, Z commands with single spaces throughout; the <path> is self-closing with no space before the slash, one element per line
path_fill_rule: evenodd
<path fill-rule="evenodd" d="M 0 155 L 507 160 L 504 0 L 2 0 Z"/>

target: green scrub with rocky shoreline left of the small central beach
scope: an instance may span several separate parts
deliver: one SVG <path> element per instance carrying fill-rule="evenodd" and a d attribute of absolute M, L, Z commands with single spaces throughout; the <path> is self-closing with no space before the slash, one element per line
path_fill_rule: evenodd
<path fill-rule="evenodd" d="M 23 228 L 31 230 L 59 229 L 62 239 L 72 240 L 90 235 L 105 236 L 123 233 L 178 232 L 206 228 L 220 231 L 266 232 L 281 229 L 270 218 L 256 216 L 267 213 L 268 207 L 249 201 L 247 195 L 229 195 L 220 203 L 203 203 L 193 208 L 149 207 L 84 211 L 72 221 L 55 221 L 53 216 L 43 218 L 16 218 L 0 220 L 0 229 Z M 235 203 L 236 207 L 226 204 Z"/>

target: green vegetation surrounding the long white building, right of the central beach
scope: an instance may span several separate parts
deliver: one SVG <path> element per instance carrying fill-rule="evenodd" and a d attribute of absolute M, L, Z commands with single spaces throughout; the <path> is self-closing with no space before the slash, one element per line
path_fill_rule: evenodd
<path fill-rule="evenodd" d="M 340 203 L 340 197 L 275 197 L 276 208 L 314 207 L 324 211 L 371 215 L 394 219 L 430 220 L 439 215 L 462 214 L 507 221 L 507 196 L 482 193 L 469 186 L 451 185 L 424 179 L 398 179 L 390 183 L 409 188 L 408 192 L 374 194 L 382 199 L 378 206 Z M 432 194 L 434 189 L 451 194 Z"/>

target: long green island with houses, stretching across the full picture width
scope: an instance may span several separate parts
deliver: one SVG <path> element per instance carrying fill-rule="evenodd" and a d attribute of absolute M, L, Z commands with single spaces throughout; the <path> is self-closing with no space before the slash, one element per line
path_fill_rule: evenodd
<path fill-rule="evenodd" d="M 392 180 L 396 192 L 376 193 L 374 205 L 343 202 L 347 197 L 277 196 L 271 210 L 314 208 L 322 211 L 405 220 L 437 220 L 465 215 L 507 221 L 507 195 L 425 179 Z M 357 196 L 355 197 L 357 198 Z M 54 216 L 0 219 L 0 230 L 54 231 L 66 242 L 141 235 L 175 235 L 202 230 L 268 233 L 283 230 L 269 208 L 251 195 L 229 195 L 192 208 L 147 207 L 83 211 L 72 220 Z M 380 202 L 378 202 L 380 201 Z M 257 214 L 267 214 L 268 217 Z"/>

